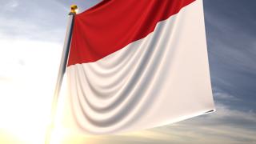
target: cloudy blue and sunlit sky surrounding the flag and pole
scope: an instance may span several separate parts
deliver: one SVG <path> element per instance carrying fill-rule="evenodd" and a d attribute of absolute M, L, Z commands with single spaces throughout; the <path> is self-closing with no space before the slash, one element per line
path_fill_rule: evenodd
<path fill-rule="evenodd" d="M 43 143 L 67 14 L 99 0 L 0 0 L 0 143 Z M 204 0 L 216 112 L 129 134 L 62 143 L 256 143 L 256 1 Z"/>

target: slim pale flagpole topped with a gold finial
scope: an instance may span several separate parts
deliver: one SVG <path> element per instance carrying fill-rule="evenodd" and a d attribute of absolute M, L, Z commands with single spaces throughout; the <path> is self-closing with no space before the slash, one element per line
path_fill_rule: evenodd
<path fill-rule="evenodd" d="M 70 53 L 70 42 L 71 42 L 72 31 L 73 31 L 73 26 L 74 26 L 74 16 L 76 14 L 76 10 L 78 10 L 78 6 L 71 5 L 70 9 L 71 10 L 70 10 L 70 14 L 69 14 L 68 25 L 66 28 L 66 38 L 65 38 L 64 46 L 63 46 L 63 50 L 62 50 L 62 59 L 61 59 L 60 66 L 58 69 L 58 78 L 57 78 L 57 82 L 56 82 L 56 86 L 55 86 L 55 90 L 54 90 L 54 98 L 53 98 L 52 106 L 51 106 L 50 126 L 46 130 L 45 144 L 50 144 L 50 136 L 54 129 L 54 120 L 55 120 L 55 114 L 57 111 L 58 97 L 59 97 L 59 93 L 60 93 L 60 90 L 62 87 L 63 76 L 66 72 L 67 60 L 68 60 L 69 53 Z"/>

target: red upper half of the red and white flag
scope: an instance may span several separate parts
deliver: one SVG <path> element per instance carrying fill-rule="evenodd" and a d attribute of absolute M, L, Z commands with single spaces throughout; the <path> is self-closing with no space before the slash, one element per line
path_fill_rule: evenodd
<path fill-rule="evenodd" d="M 95 62 L 145 38 L 158 22 L 195 0 L 105 0 L 77 14 L 68 66 Z"/>

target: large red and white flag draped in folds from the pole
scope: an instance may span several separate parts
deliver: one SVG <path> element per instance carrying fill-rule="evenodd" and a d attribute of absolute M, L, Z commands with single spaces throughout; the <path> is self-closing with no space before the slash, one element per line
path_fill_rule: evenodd
<path fill-rule="evenodd" d="M 102 1 L 75 15 L 67 66 L 63 122 L 85 134 L 214 110 L 202 0 Z"/>

